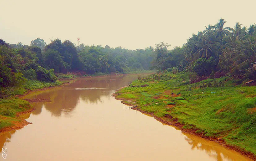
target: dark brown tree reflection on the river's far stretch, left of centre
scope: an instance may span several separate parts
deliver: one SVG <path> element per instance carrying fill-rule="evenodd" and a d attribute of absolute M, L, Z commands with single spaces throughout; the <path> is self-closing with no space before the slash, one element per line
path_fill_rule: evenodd
<path fill-rule="evenodd" d="M 136 78 L 137 74 L 83 78 L 63 87 L 31 93 L 25 98 L 49 98 L 51 102 L 31 103 L 36 108 L 32 114 L 40 114 L 44 106 L 52 113 L 52 116 L 59 117 L 63 111 L 66 111 L 66 114 L 72 112 L 80 101 L 93 104 L 102 103 L 102 96 L 111 97 L 114 90 L 128 85 L 127 82 Z"/>

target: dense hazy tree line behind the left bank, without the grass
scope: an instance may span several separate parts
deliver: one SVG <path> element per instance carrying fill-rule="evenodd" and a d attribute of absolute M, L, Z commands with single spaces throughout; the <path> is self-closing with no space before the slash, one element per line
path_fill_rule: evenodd
<path fill-rule="evenodd" d="M 127 73 L 148 70 L 153 48 L 128 50 L 109 46 L 75 46 L 69 40 L 46 44 L 37 38 L 30 46 L 8 44 L 0 39 L 0 87 L 19 86 L 24 80 L 54 82 L 54 73 Z"/>

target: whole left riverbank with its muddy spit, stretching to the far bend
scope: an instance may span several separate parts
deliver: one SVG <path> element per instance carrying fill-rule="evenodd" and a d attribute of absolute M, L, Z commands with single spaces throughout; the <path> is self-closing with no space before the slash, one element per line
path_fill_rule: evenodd
<path fill-rule="evenodd" d="M 34 108 L 29 102 L 50 102 L 50 99 L 23 99 L 25 95 L 41 90 L 47 90 L 50 88 L 60 87 L 65 84 L 69 84 L 77 78 L 90 78 L 90 77 L 105 77 L 110 74 L 95 74 L 95 75 L 84 75 L 80 72 L 73 72 L 62 74 L 56 74 L 58 80 L 56 82 L 42 82 L 37 80 L 28 80 L 23 87 L 11 87 L 2 90 L 1 93 L 7 95 L 0 99 L 0 135 L 7 131 L 21 129 L 24 126 L 30 124 L 25 119 L 20 117 L 21 114 L 29 113 Z M 119 73 L 111 75 L 123 75 Z"/>

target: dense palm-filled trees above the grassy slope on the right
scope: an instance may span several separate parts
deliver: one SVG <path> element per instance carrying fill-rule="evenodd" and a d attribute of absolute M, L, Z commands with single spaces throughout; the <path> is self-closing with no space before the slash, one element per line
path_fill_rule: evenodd
<path fill-rule="evenodd" d="M 224 73 L 241 79 L 256 79 L 256 25 L 249 28 L 236 23 L 224 27 L 225 19 L 193 34 L 182 47 L 167 50 L 169 44 L 156 44 L 156 70 L 187 70 L 198 76 Z"/>

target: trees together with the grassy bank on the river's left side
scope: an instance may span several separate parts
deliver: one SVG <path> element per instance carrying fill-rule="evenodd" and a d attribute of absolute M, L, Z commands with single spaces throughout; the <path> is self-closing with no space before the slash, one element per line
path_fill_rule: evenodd
<path fill-rule="evenodd" d="M 151 47 L 145 50 L 84 44 L 76 47 L 69 40 L 56 39 L 46 44 L 39 38 L 28 46 L 20 42 L 8 44 L 0 39 L 0 130 L 19 121 L 18 112 L 31 108 L 27 101 L 15 95 L 59 86 L 63 84 L 61 81 L 80 75 L 148 70 L 152 54 Z"/>

